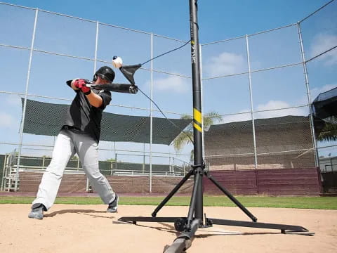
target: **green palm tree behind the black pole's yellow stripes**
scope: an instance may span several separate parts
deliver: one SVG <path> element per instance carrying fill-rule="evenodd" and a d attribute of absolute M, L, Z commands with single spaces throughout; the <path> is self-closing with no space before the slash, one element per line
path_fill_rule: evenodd
<path fill-rule="evenodd" d="M 180 119 L 190 119 L 191 124 L 187 126 L 187 129 L 185 131 L 182 131 L 173 141 L 173 147 L 178 152 L 180 151 L 184 145 L 188 144 L 193 140 L 193 126 L 192 126 L 192 116 L 191 115 L 182 115 Z M 208 129 L 209 126 L 214 124 L 214 122 L 218 121 L 220 122 L 223 119 L 223 117 L 218 112 L 209 112 L 206 113 L 203 117 L 204 122 L 204 129 Z M 193 151 L 192 151 L 193 153 Z M 192 154 L 191 153 L 191 154 Z"/>

